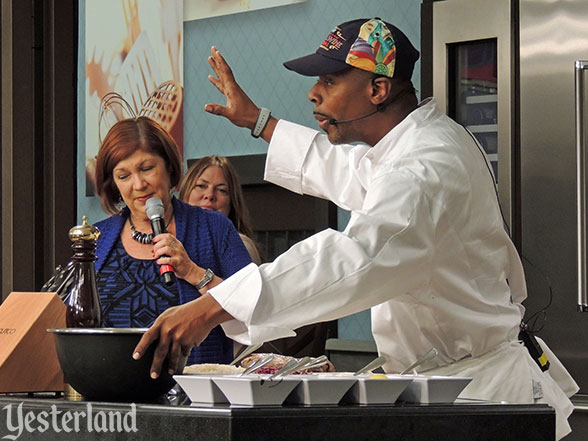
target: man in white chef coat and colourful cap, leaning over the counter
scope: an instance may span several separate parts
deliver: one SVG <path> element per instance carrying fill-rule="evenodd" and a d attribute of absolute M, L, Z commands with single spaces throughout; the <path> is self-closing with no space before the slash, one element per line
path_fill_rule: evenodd
<path fill-rule="evenodd" d="M 551 367 L 542 372 L 518 340 L 525 280 L 491 167 L 433 99 L 417 103 L 417 59 L 396 27 L 359 19 L 336 27 L 314 54 L 285 63 L 318 77 L 308 97 L 321 134 L 255 106 L 212 48 L 210 80 L 227 104 L 205 110 L 270 143 L 266 180 L 329 199 L 351 219 L 343 232 L 322 231 L 166 311 L 134 355 L 160 339 L 154 376 L 168 352 L 173 366 L 218 323 L 253 344 L 371 308 L 386 372 L 436 348 L 422 372 L 473 377 L 461 397 L 548 403 L 558 439 L 569 432 L 577 385 L 547 349 Z"/>

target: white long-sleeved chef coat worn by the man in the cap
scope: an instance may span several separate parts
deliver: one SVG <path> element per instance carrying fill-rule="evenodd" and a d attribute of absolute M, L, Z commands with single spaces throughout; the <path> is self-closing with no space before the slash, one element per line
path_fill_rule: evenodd
<path fill-rule="evenodd" d="M 315 234 L 211 289 L 235 318 L 227 335 L 267 341 L 371 307 L 387 372 L 434 347 L 439 355 L 423 369 L 474 377 L 465 397 L 529 403 L 533 380 L 542 381 L 537 399 L 558 410 L 558 436 L 569 431 L 569 400 L 517 341 L 527 294 L 490 166 L 434 100 L 371 148 L 333 146 L 281 120 L 265 179 L 329 199 L 351 218 L 345 231 Z"/>

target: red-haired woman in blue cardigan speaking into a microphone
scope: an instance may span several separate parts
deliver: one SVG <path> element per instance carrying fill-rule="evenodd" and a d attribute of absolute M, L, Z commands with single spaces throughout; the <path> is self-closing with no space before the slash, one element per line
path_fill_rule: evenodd
<path fill-rule="evenodd" d="M 111 217 L 98 222 L 96 252 L 103 325 L 148 327 L 171 306 L 200 297 L 251 262 L 231 221 L 222 213 L 185 204 L 172 195 L 181 162 L 171 136 L 147 117 L 117 122 L 96 161 L 96 190 Z M 145 205 L 163 204 L 164 234 L 153 235 Z M 171 265 L 166 285 L 160 266 Z M 220 326 L 194 348 L 188 364 L 228 363 L 233 341 Z"/>

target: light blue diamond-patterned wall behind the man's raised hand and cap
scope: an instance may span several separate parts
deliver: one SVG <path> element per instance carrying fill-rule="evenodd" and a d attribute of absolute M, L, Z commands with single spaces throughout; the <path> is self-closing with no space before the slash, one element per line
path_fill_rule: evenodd
<path fill-rule="evenodd" d="M 208 81 L 207 58 L 215 45 L 227 59 L 237 81 L 253 101 L 278 118 L 316 127 L 307 93 L 315 79 L 299 76 L 282 66 L 314 52 L 337 24 L 360 17 L 379 16 L 394 23 L 420 47 L 420 1 L 416 0 L 308 0 L 241 14 L 184 23 L 184 157 L 208 154 L 265 153 L 267 144 L 233 127 L 223 118 L 204 112 L 207 103 L 224 104 L 224 97 Z M 78 131 L 78 218 L 91 223 L 106 217 L 95 197 L 84 195 L 84 29 L 85 0 L 80 0 L 80 66 Z M 415 68 L 420 84 L 420 65 Z M 348 216 L 341 212 L 339 227 Z M 369 311 L 339 321 L 339 337 L 371 339 Z"/>

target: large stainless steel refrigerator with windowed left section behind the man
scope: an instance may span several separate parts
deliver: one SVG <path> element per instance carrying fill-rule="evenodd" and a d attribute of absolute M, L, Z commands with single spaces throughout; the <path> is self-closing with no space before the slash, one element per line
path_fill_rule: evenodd
<path fill-rule="evenodd" d="M 574 415 L 583 418 L 570 439 L 584 439 L 588 1 L 425 0 L 426 11 L 432 93 L 493 163 L 523 256 L 525 317 L 535 318 L 538 335 L 580 386 Z"/>

